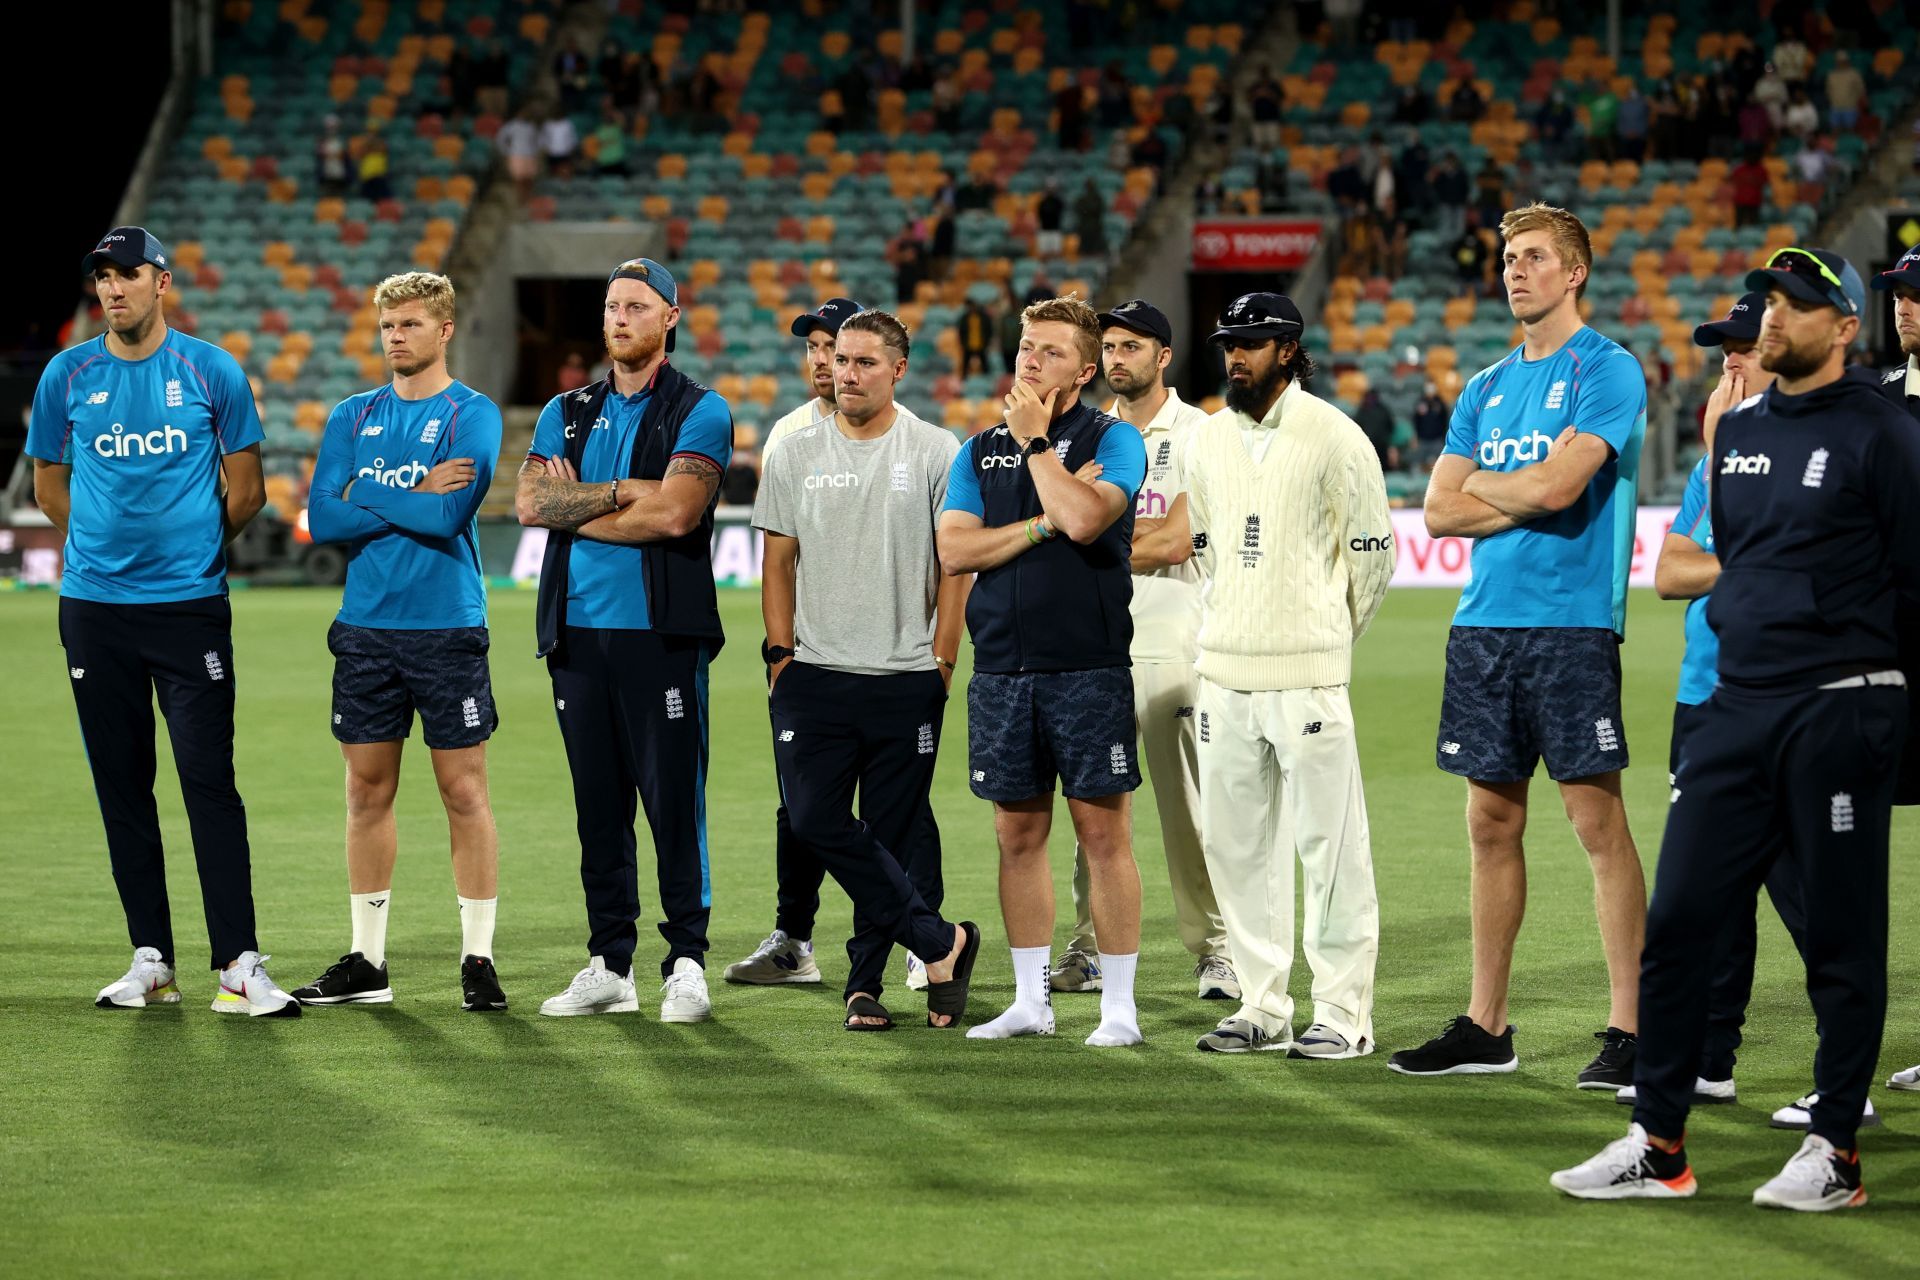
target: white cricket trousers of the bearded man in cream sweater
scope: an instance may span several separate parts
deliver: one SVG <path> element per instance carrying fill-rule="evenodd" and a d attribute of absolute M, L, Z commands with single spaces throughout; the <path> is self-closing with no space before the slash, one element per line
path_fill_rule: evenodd
<path fill-rule="evenodd" d="M 1346 685 L 1242 693 L 1200 677 L 1196 727 L 1200 837 L 1242 1015 L 1269 1034 L 1292 1021 L 1298 854 L 1313 1021 L 1371 1050 L 1380 906 Z"/>

